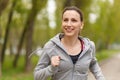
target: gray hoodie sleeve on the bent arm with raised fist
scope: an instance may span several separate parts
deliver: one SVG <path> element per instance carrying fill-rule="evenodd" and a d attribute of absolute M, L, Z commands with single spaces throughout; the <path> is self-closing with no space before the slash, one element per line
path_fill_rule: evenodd
<path fill-rule="evenodd" d="M 50 57 L 43 52 L 34 70 L 34 80 L 47 80 L 48 77 L 57 71 L 57 67 L 50 64 Z"/>

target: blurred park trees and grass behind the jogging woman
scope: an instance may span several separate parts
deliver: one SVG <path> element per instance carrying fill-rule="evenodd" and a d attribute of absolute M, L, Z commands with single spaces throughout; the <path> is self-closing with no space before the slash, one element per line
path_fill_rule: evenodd
<path fill-rule="evenodd" d="M 66 6 L 84 13 L 81 36 L 95 42 L 98 61 L 120 52 L 120 0 L 0 0 L 0 80 L 33 80 L 29 55 L 61 32 Z M 36 52 L 37 53 L 37 52 Z"/>

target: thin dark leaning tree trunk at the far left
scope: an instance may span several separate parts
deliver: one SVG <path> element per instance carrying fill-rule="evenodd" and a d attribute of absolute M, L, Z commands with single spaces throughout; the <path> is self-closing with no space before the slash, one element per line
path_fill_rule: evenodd
<path fill-rule="evenodd" d="M 2 63 L 4 62 L 5 49 L 6 49 L 8 35 L 9 35 L 9 31 L 10 31 L 10 23 L 11 23 L 11 20 L 12 20 L 13 10 L 14 10 L 15 5 L 16 5 L 16 0 L 13 1 L 12 7 L 11 7 L 11 10 L 10 10 L 10 13 L 9 13 L 9 18 L 8 18 L 7 26 L 6 26 L 4 44 L 3 44 L 2 52 L 1 52 L 1 62 Z"/>

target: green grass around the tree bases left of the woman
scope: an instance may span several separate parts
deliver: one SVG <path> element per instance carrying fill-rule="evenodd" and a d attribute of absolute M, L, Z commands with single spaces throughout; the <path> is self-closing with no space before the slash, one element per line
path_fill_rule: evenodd
<path fill-rule="evenodd" d="M 5 62 L 2 67 L 2 77 L 0 78 L 0 80 L 34 80 L 33 70 L 35 65 L 37 64 L 38 58 L 39 58 L 38 56 L 32 57 L 33 68 L 31 71 L 26 73 L 24 71 L 24 64 L 25 64 L 24 56 L 20 57 L 17 68 L 13 68 L 12 66 L 14 57 L 5 56 Z"/>

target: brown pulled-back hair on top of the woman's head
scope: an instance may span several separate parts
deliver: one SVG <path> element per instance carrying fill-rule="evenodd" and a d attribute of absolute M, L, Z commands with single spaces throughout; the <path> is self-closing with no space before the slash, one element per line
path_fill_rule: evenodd
<path fill-rule="evenodd" d="M 62 12 L 62 17 L 63 17 L 63 14 L 64 14 L 67 10 L 74 10 L 74 11 L 76 11 L 77 13 L 79 13 L 79 15 L 80 15 L 80 20 L 83 22 L 83 13 L 82 13 L 82 11 L 81 11 L 79 8 L 77 8 L 77 7 L 75 7 L 75 6 L 66 7 L 66 8 L 63 10 L 63 12 Z"/>

